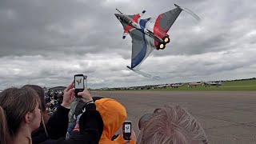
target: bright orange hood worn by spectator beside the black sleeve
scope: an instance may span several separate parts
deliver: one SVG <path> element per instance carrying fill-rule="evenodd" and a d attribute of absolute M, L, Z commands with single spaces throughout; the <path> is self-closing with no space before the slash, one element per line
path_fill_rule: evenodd
<path fill-rule="evenodd" d="M 104 129 L 99 143 L 116 143 L 111 138 L 126 121 L 127 114 L 125 106 L 114 99 L 102 98 L 95 101 L 96 109 L 102 115 Z"/>

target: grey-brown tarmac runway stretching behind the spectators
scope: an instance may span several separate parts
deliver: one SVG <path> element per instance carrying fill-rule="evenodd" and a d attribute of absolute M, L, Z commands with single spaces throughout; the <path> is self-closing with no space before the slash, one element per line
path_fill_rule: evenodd
<path fill-rule="evenodd" d="M 94 96 L 114 98 L 126 106 L 127 120 L 138 136 L 143 114 L 170 102 L 184 106 L 202 124 L 210 143 L 256 143 L 256 92 L 107 91 Z"/>

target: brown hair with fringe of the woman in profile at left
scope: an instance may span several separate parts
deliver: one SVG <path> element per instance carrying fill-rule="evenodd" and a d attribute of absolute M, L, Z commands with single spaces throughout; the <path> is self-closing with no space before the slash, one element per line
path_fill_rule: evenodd
<path fill-rule="evenodd" d="M 38 94 L 29 87 L 9 88 L 0 93 L 1 144 L 10 144 L 22 119 L 41 104 Z"/>

